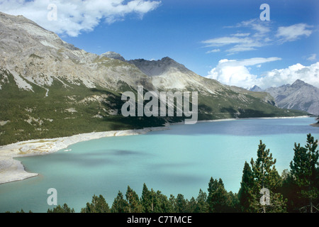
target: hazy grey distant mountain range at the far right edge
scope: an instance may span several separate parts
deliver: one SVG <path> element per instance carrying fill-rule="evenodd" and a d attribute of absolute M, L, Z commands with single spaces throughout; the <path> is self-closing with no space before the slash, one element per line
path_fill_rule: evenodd
<path fill-rule="evenodd" d="M 269 93 L 280 108 L 298 109 L 319 116 L 319 89 L 300 79 L 293 84 L 269 87 L 265 90 L 254 86 L 250 91 Z"/>

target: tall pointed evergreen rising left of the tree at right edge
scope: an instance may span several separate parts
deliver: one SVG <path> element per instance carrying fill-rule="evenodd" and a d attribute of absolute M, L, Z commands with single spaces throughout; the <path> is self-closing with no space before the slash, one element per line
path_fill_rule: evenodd
<path fill-rule="evenodd" d="M 257 160 L 251 160 L 252 175 L 254 177 L 254 187 L 252 188 L 252 196 L 254 201 L 250 204 L 253 212 L 285 212 L 286 200 L 282 194 L 275 193 L 281 186 L 281 177 L 276 171 L 276 159 L 272 157 L 270 150 L 266 149 L 266 145 L 260 140 L 257 150 Z M 262 190 L 269 194 L 261 194 Z M 269 203 L 262 204 L 261 198 L 268 198 Z"/>

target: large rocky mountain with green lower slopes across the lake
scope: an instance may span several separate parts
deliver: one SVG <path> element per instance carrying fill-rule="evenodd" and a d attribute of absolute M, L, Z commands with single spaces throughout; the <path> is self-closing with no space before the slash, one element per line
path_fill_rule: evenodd
<path fill-rule="evenodd" d="M 198 120 L 301 116 L 264 94 L 220 84 L 164 57 L 130 60 L 96 55 L 23 16 L 0 13 L 0 145 L 93 131 L 162 126 L 183 117 L 123 117 L 123 92 L 198 92 Z"/>

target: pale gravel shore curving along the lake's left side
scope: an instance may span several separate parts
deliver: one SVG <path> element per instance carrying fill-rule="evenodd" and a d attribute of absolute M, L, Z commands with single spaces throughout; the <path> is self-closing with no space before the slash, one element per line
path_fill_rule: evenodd
<path fill-rule="evenodd" d="M 47 155 L 67 148 L 69 145 L 86 140 L 95 140 L 110 136 L 140 135 L 150 131 L 162 131 L 166 127 L 143 128 L 138 130 L 106 131 L 99 133 L 84 133 L 69 137 L 28 140 L 10 145 L 0 146 L 0 184 L 14 182 L 29 177 L 38 176 L 38 173 L 26 172 L 21 162 L 14 157 Z"/>

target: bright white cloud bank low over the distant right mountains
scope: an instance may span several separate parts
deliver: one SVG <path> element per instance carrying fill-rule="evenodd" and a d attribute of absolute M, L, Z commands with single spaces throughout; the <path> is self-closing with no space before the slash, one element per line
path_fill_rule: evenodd
<path fill-rule="evenodd" d="M 256 65 L 256 67 L 260 67 L 263 63 L 276 60 L 281 59 L 279 57 L 254 57 L 246 60 L 224 59 L 220 60 L 218 65 L 208 72 L 207 77 L 217 79 L 222 84 L 243 88 L 257 85 L 262 89 L 267 89 L 268 87 L 293 84 L 297 79 L 319 87 L 319 62 L 308 67 L 298 63 L 285 69 L 266 72 L 261 76 L 250 72 L 249 66 Z"/>

